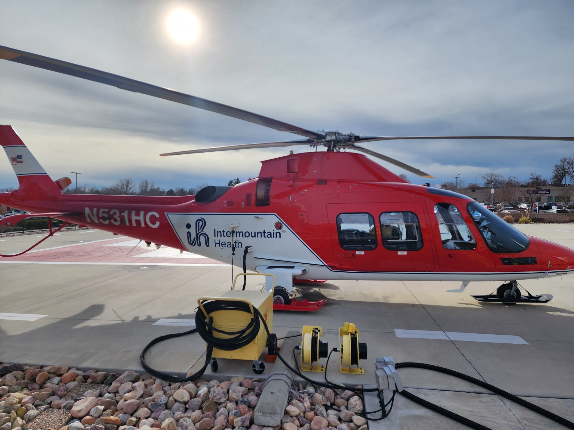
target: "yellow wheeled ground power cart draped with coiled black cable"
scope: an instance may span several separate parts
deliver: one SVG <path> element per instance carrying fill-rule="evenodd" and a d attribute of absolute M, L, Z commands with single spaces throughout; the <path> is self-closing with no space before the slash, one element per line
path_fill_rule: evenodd
<path fill-rule="evenodd" d="M 203 312 L 205 320 L 208 322 L 210 334 L 221 343 L 225 339 L 234 336 L 247 338 L 254 336 L 253 340 L 246 345 L 236 349 L 213 348 L 211 370 L 218 369 L 217 358 L 230 358 L 235 360 L 253 360 L 253 371 L 257 374 L 263 373 L 265 365 L 259 360 L 263 349 L 267 346 L 267 332 L 265 326 L 259 321 L 258 333 L 251 333 L 254 330 L 254 322 L 257 322 L 254 308 L 261 313 L 263 320 L 273 330 L 273 293 L 271 291 L 242 291 L 235 290 L 235 283 L 239 276 L 235 276 L 232 290 L 227 291 L 221 297 L 201 297 L 197 300 L 198 312 Z M 248 276 L 273 276 L 269 273 L 247 273 Z M 274 278 L 274 276 L 273 276 Z M 222 333 L 226 332 L 226 333 Z"/>

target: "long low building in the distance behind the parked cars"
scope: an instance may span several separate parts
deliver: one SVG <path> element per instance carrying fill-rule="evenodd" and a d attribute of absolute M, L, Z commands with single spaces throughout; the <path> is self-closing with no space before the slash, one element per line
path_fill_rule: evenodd
<path fill-rule="evenodd" d="M 494 187 L 494 203 L 508 203 L 510 205 L 517 205 L 519 203 L 541 202 L 541 203 L 562 203 L 572 202 L 572 191 L 574 185 L 566 186 L 566 195 L 564 196 L 564 185 L 545 185 L 540 187 L 534 186 L 519 186 L 507 187 L 499 186 Z M 474 200 L 482 202 L 492 201 L 492 194 L 490 187 L 478 188 L 461 188 L 459 193 L 464 194 Z"/>

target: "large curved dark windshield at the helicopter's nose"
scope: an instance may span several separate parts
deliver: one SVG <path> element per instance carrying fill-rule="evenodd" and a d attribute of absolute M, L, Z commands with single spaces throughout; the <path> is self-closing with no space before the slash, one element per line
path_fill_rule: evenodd
<path fill-rule="evenodd" d="M 470 202 L 467 209 L 490 251 L 499 254 L 522 252 L 530 245 L 525 234 L 481 204 Z"/>

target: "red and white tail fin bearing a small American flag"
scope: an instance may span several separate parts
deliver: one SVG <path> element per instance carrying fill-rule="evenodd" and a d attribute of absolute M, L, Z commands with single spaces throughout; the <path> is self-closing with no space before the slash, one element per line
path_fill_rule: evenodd
<path fill-rule="evenodd" d="M 18 191 L 26 200 L 42 199 L 61 194 L 40 163 L 34 158 L 11 126 L 0 126 L 0 145 L 18 177 Z"/>

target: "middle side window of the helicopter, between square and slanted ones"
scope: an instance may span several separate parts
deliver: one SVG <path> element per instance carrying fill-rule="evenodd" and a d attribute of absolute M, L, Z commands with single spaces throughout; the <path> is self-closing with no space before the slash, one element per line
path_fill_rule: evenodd
<path fill-rule="evenodd" d="M 386 249 L 418 251 L 422 248 L 421 227 L 413 212 L 383 212 L 379 221 Z"/>

